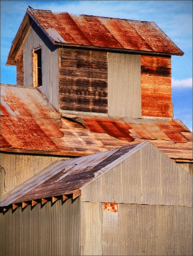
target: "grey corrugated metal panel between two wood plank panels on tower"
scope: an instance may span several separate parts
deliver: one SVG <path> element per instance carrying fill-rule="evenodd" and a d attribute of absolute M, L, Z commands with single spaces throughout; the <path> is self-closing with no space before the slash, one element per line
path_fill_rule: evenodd
<path fill-rule="evenodd" d="M 108 52 L 108 115 L 141 117 L 140 55 Z"/>

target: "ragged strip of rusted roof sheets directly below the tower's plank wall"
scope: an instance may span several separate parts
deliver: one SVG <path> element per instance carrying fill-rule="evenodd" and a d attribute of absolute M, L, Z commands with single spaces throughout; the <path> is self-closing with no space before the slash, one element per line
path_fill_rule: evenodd
<path fill-rule="evenodd" d="M 133 141 L 131 131 L 133 130 L 139 138 L 163 139 L 174 143 L 188 142 L 181 131 L 188 131 L 182 122 L 175 120 L 160 121 L 152 119 L 128 119 L 111 117 L 84 117 L 75 119 L 82 123 L 87 129 L 94 133 L 107 133 L 112 137 Z M 82 121 L 81 121 L 82 120 Z M 178 130 L 175 127 L 178 125 Z M 182 127 L 181 127 L 182 125 Z"/>

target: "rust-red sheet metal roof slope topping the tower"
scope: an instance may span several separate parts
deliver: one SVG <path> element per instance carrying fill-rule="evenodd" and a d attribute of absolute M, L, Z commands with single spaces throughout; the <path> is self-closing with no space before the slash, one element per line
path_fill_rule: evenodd
<path fill-rule="evenodd" d="M 28 9 L 27 13 L 44 30 L 56 29 L 68 44 L 183 54 L 154 22 L 34 9 Z"/>

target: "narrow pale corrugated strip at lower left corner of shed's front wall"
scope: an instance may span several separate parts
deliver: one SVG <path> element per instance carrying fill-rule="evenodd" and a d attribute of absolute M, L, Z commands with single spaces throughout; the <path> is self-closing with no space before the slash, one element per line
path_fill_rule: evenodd
<path fill-rule="evenodd" d="M 81 202 L 81 255 L 103 255 L 102 223 L 102 203 Z"/>

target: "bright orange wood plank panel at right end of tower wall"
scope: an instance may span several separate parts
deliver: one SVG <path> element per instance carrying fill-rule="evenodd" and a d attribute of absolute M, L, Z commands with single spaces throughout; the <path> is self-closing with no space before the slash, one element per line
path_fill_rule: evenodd
<path fill-rule="evenodd" d="M 141 55 L 141 114 L 173 118 L 171 56 Z"/>

